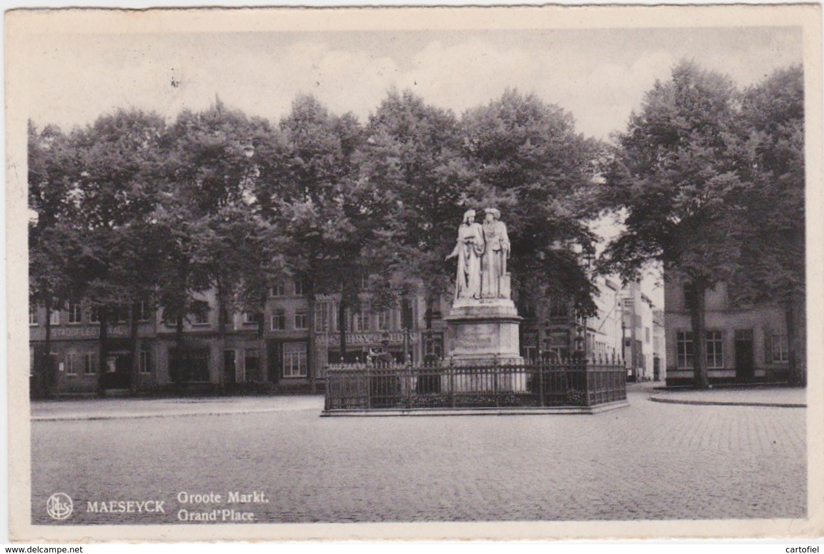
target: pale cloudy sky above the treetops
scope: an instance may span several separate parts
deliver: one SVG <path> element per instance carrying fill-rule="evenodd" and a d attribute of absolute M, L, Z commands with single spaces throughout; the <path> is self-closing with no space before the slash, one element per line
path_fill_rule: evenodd
<path fill-rule="evenodd" d="M 47 34 L 30 45 L 30 117 L 65 128 L 126 106 L 171 120 L 215 95 L 278 120 L 299 92 L 366 120 L 391 87 L 460 114 L 517 87 L 606 139 L 680 59 L 741 87 L 802 61 L 794 27 Z"/>

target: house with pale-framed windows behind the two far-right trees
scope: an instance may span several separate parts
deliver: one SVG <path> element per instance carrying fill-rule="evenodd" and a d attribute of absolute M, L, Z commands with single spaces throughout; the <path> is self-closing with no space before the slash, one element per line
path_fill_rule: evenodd
<path fill-rule="evenodd" d="M 667 385 L 691 384 L 695 377 L 690 303 L 685 279 L 668 275 L 664 286 Z M 784 381 L 789 348 L 784 311 L 776 304 L 737 307 L 727 285 L 705 297 L 705 353 L 710 383 Z"/>

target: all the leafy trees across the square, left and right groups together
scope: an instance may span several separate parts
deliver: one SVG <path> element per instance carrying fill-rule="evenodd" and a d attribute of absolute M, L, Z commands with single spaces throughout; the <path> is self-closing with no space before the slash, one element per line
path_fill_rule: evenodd
<path fill-rule="evenodd" d="M 797 307 L 801 79 L 790 68 L 741 94 L 681 63 L 613 145 L 517 91 L 461 117 L 390 92 L 366 123 L 299 96 L 277 125 L 219 100 L 171 124 L 137 110 L 68 133 L 30 124 L 30 301 L 49 312 L 87 299 L 101 314 L 105 359 L 106 318 L 128 299 L 137 372 L 139 302 L 176 319 L 178 352 L 185 318 L 208 309 L 199 293 L 215 291 L 225 341 L 227 314 L 263 312 L 284 275 L 306 286 L 310 328 L 321 293 L 339 293 L 341 318 L 357 310 L 364 275 L 377 308 L 420 290 L 431 306 L 453 278 L 443 258 L 461 214 L 494 205 L 513 242 L 522 308 L 555 296 L 592 312 L 579 254 L 595 251 L 588 222 L 605 210 L 624 214 L 626 229 L 602 271 L 634 279 L 658 260 L 684 272 L 696 297 L 726 279 L 742 300 Z M 344 351 L 344 332 L 339 340 Z M 310 372 L 314 352 L 310 342 Z"/>

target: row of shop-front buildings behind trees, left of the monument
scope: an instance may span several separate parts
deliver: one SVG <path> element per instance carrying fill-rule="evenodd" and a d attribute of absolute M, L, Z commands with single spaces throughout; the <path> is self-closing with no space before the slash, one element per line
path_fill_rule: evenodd
<path fill-rule="evenodd" d="M 157 393 L 177 387 L 177 383 L 204 392 L 248 383 L 262 390 L 308 390 L 310 333 L 315 345 L 315 377 L 321 385 L 328 363 L 365 362 L 382 353 L 399 362 L 418 363 L 427 355 L 443 355 L 441 313 L 447 304 L 436 303 L 430 317 L 425 317 L 422 297 L 375 311 L 364 294 L 362 306 L 345 311 L 344 353 L 338 298 L 316 299 L 314 328 L 310 329 L 308 301 L 299 281 L 285 280 L 274 286 L 260 315 L 232 314 L 224 336 L 219 333 L 214 294 L 204 293 L 200 300 L 208 309 L 185 318 L 182 340 L 176 321 L 166 321 L 162 311 L 138 308 L 137 372 L 132 364 L 135 343 L 128 308 L 115 309 L 110 315 L 102 349 L 100 317 L 88 303 L 69 303 L 51 312 L 51 377 L 45 371 L 46 312 L 30 308 L 33 394 L 45 390 L 47 379 L 49 391 L 57 393 L 93 393 L 100 387 Z"/>

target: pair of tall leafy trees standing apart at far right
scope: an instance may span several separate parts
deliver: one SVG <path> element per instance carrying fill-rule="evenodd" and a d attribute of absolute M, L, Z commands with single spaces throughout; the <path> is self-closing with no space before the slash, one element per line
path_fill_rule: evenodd
<path fill-rule="evenodd" d="M 784 306 L 790 381 L 805 382 L 803 106 L 800 67 L 738 92 L 684 62 L 647 92 L 606 161 L 604 201 L 626 228 L 602 270 L 633 279 L 658 261 L 686 279 L 696 387 L 709 386 L 705 293 L 722 282 L 737 305 Z"/>

